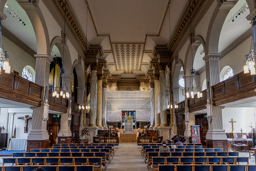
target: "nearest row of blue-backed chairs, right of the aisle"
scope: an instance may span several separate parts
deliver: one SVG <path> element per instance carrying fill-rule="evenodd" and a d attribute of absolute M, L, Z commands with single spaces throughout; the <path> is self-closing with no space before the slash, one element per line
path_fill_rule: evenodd
<path fill-rule="evenodd" d="M 255 165 L 238 164 L 159 164 L 158 171 L 255 171 Z"/>

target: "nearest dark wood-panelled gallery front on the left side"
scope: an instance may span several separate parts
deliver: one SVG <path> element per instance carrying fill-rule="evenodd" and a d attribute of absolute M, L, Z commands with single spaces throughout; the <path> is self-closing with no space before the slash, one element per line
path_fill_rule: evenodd
<path fill-rule="evenodd" d="M 41 106 L 44 87 L 12 72 L 5 73 L 3 69 L 0 80 L 0 98 Z"/>

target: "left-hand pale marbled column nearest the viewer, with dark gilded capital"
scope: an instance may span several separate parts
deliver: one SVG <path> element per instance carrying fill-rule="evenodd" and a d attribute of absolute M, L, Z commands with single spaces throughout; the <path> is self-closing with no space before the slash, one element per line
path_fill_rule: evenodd
<path fill-rule="evenodd" d="M 97 68 L 98 64 L 91 64 L 91 85 L 90 85 L 90 114 L 89 114 L 89 127 L 96 126 L 97 116 Z"/>

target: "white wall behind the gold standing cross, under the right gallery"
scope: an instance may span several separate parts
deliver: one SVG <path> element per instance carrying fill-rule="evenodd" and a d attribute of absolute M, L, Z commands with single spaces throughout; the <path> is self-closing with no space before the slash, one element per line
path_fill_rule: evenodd
<path fill-rule="evenodd" d="M 233 118 L 234 130 L 237 133 L 241 133 L 241 128 L 243 133 L 251 132 L 251 123 L 255 127 L 255 108 L 253 107 L 227 107 L 222 110 L 222 121 L 223 128 L 225 128 L 226 133 L 232 131 L 231 123 L 229 121 Z"/>

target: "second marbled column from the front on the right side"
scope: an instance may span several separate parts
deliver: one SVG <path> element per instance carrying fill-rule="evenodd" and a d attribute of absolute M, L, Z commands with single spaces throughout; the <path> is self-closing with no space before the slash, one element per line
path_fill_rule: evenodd
<path fill-rule="evenodd" d="M 154 74 L 155 82 L 155 128 L 160 126 L 159 75 Z"/>

